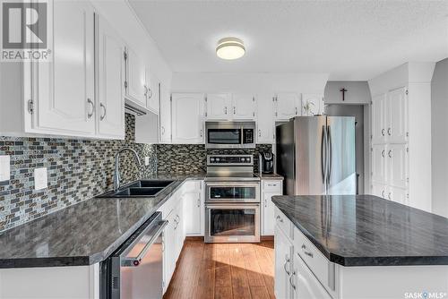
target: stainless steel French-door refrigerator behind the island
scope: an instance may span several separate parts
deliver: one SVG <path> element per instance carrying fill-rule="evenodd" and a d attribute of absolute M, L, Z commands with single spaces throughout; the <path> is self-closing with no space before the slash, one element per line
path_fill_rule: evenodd
<path fill-rule="evenodd" d="M 355 117 L 297 116 L 276 126 L 288 195 L 356 194 Z"/>

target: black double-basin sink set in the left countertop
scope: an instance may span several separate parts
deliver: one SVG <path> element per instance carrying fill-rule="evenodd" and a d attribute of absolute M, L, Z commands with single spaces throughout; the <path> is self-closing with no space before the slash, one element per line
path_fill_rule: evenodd
<path fill-rule="evenodd" d="M 106 192 L 98 197 L 154 197 L 174 182 L 170 180 L 139 180 L 127 184 L 117 191 Z"/>

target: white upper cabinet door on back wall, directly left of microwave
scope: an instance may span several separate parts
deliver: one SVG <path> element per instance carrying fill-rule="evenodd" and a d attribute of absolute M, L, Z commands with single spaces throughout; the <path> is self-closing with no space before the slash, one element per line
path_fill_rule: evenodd
<path fill-rule="evenodd" d="M 173 143 L 203 143 L 203 94 L 173 94 L 171 105 Z"/>

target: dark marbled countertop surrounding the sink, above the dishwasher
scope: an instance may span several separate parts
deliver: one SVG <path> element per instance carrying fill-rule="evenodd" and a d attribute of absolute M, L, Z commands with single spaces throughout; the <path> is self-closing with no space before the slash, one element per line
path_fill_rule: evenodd
<path fill-rule="evenodd" d="M 153 175 L 175 180 L 156 197 L 92 198 L 0 234 L 0 269 L 91 265 L 105 260 L 188 179 L 205 174 Z"/>

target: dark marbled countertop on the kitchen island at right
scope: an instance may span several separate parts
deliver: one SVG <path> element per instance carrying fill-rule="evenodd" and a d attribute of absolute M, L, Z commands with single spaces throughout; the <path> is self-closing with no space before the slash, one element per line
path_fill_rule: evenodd
<path fill-rule="evenodd" d="M 272 201 L 342 266 L 448 265 L 448 218 L 372 195 L 273 196 Z"/>

